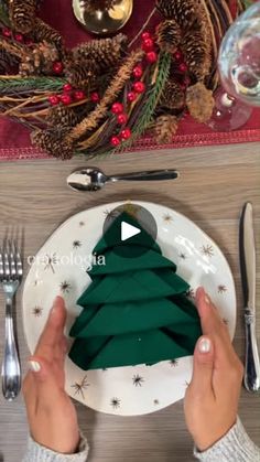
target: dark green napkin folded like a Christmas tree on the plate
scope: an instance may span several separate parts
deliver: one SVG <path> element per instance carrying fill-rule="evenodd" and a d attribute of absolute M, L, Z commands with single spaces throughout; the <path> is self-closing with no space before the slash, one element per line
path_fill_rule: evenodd
<path fill-rule="evenodd" d="M 141 233 L 122 243 L 122 222 Z M 88 272 L 93 282 L 77 301 L 83 311 L 69 333 L 75 339 L 71 359 L 88 370 L 193 354 L 202 331 L 196 308 L 186 297 L 189 286 L 140 223 L 122 213 L 94 255 L 102 255 L 106 265 Z"/>

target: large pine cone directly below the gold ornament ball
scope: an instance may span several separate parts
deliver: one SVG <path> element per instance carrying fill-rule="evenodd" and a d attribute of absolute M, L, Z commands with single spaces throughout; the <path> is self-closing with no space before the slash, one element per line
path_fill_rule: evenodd
<path fill-rule="evenodd" d="M 112 39 L 99 39 L 83 43 L 73 50 L 73 60 L 78 64 L 83 61 L 102 73 L 115 67 L 126 51 L 127 36 L 118 34 Z"/>

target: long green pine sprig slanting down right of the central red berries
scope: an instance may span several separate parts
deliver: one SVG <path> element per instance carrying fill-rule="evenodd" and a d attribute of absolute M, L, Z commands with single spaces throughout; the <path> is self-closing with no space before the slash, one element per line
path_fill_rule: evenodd
<path fill-rule="evenodd" d="M 113 150 L 113 153 L 118 153 L 130 148 L 134 143 L 134 141 L 138 138 L 140 138 L 145 132 L 148 127 L 151 125 L 155 108 L 158 106 L 161 94 L 169 78 L 171 61 L 172 61 L 172 56 L 170 53 L 160 54 L 156 82 L 153 85 L 153 87 L 150 89 L 150 94 L 148 95 L 148 98 L 145 103 L 143 104 L 139 118 L 133 127 L 132 137 L 127 142 L 124 142 L 122 147 Z"/>

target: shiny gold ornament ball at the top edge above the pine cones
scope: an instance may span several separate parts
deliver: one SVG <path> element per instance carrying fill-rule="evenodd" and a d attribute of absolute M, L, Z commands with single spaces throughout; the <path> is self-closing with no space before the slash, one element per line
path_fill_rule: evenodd
<path fill-rule="evenodd" d="M 84 28 L 97 35 L 118 32 L 129 21 L 133 9 L 133 0 L 117 0 L 110 9 L 87 11 L 85 0 L 73 0 L 76 19 Z"/>

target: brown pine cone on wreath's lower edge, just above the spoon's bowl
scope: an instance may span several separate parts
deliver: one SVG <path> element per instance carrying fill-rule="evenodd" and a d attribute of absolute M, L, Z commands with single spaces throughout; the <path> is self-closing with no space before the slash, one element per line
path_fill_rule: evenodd
<path fill-rule="evenodd" d="M 32 144 L 37 146 L 51 155 L 66 160 L 72 159 L 73 147 L 64 141 L 65 135 L 65 130 L 36 130 L 31 133 L 31 140 Z"/>

